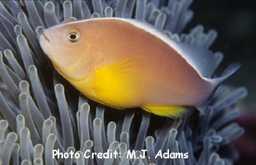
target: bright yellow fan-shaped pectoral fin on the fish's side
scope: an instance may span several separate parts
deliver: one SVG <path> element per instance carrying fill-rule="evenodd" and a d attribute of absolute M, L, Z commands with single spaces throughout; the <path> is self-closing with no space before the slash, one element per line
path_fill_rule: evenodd
<path fill-rule="evenodd" d="M 138 107 L 145 88 L 145 73 L 138 67 L 138 61 L 126 58 L 95 70 L 93 99 L 110 107 Z"/>

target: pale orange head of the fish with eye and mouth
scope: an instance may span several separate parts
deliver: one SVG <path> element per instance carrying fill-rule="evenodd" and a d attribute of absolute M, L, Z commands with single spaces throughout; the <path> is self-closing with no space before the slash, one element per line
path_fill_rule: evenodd
<path fill-rule="evenodd" d="M 80 80 L 86 77 L 97 62 L 97 55 L 89 51 L 90 39 L 78 21 L 61 23 L 45 29 L 39 44 L 55 69 L 64 77 Z"/>

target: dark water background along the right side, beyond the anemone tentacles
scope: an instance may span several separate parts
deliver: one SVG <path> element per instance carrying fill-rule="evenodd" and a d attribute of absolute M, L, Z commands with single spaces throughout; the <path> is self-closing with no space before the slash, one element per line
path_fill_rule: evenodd
<path fill-rule="evenodd" d="M 242 64 L 241 69 L 225 81 L 235 87 L 245 86 L 249 91 L 241 101 L 241 117 L 237 120 L 246 133 L 235 142 L 241 153 L 236 164 L 256 164 L 256 1 L 195 0 L 190 8 L 195 15 L 186 31 L 198 23 L 203 24 L 206 31 L 211 28 L 218 31 L 211 50 L 225 55 L 219 71 L 233 61 Z"/>

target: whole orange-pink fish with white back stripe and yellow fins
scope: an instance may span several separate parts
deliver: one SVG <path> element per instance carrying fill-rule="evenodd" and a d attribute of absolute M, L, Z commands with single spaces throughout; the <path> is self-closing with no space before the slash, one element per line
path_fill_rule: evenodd
<path fill-rule="evenodd" d="M 128 18 L 69 18 L 45 29 L 39 45 L 54 68 L 84 96 L 125 110 L 184 118 L 203 114 L 219 84 L 240 63 L 211 78 L 211 50 L 176 42 L 161 30 Z"/>

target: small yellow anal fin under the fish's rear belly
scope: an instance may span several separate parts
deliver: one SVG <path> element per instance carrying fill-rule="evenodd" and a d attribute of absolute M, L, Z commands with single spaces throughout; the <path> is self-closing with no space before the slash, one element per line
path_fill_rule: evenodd
<path fill-rule="evenodd" d="M 145 106 L 142 107 L 143 110 L 154 113 L 156 115 L 165 116 L 169 118 L 184 118 L 192 114 L 195 108 L 184 107 L 184 106 Z"/>

